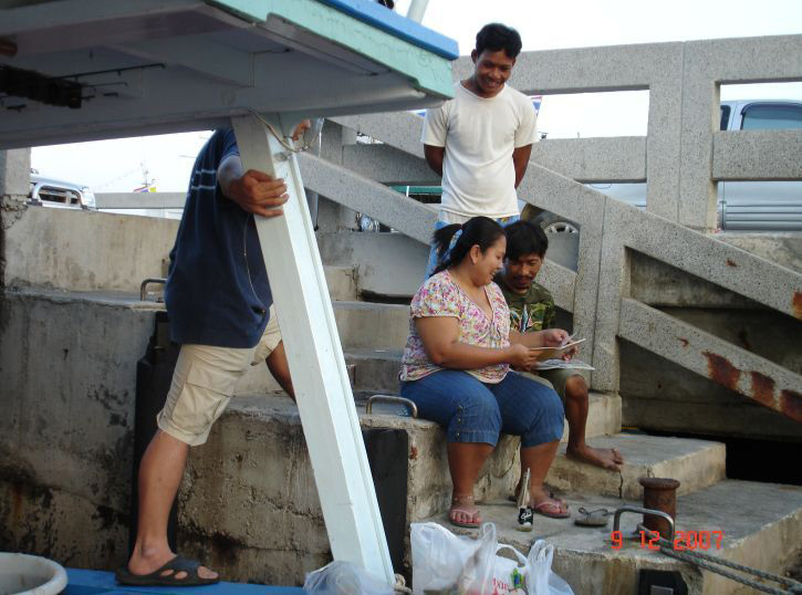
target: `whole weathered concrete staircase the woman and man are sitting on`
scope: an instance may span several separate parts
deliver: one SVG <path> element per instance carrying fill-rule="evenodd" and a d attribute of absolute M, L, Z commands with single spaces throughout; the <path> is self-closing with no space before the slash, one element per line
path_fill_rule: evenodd
<path fill-rule="evenodd" d="M 442 430 L 408 417 L 405 408 L 395 405 L 377 405 L 372 415 L 364 413 L 366 396 L 397 392 L 408 307 L 360 301 L 356 271 L 330 265 L 326 279 L 394 564 L 408 573 L 408 523 L 431 520 L 456 533 L 471 532 L 447 523 L 450 479 Z M 371 282 L 375 288 L 376 279 Z M 330 552 L 298 410 L 277 393 L 278 386 L 264 372 L 259 366 L 242 379 L 238 398 L 208 443 L 190 456 L 180 493 L 180 547 L 207 560 L 230 580 L 289 584 L 325 564 Z M 799 555 L 802 489 L 729 481 L 722 443 L 622 434 L 621 418 L 617 395 L 592 395 L 587 438 L 594 446 L 622 451 L 626 463 L 621 472 L 569 459 L 561 448 L 548 483 L 572 511 L 583 505 L 613 510 L 637 504 L 643 493 L 639 477 L 670 477 L 681 483 L 678 530 L 723 532 L 721 549 L 710 553 L 771 572 L 781 572 Z M 375 447 L 379 438 L 384 446 Z M 501 541 L 523 552 L 534 539 L 554 543 L 554 570 L 575 593 L 634 593 L 640 568 L 678 571 L 690 593 L 747 592 L 642 549 L 639 542 L 614 550 L 612 528 L 583 529 L 570 520 L 537 516 L 532 533 L 518 532 L 517 511 L 507 500 L 519 477 L 518 446 L 517 438 L 504 437 L 477 482 L 483 516 L 496 523 Z M 624 519 L 629 532 L 639 522 L 635 515 Z"/>

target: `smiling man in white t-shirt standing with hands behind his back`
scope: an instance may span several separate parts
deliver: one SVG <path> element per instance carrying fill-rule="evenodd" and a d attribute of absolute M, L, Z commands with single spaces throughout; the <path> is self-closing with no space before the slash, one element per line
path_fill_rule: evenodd
<path fill-rule="evenodd" d="M 485 216 L 510 223 L 520 216 L 515 188 L 535 140 L 532 101 L 507 85 L 521 52 L 518 31 L 486 24 L 470 58 L 473 74 L 454 85 L 454 98 L 426 112 L 423 143 L 429 167 L 442 176 L 436 229 Z M 433 248 L 426 276 L 435 268 Z"/>

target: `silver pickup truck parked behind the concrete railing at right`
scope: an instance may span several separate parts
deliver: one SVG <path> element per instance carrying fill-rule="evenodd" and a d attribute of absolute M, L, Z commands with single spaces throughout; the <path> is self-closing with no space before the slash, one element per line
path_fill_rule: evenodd
<path fill-rule="evenodd" d="M 740 100 L 721 102 L 721 131 L 777 131 L 802 128 L 802 102 Z M 646 182 L 590 184 L 605 195 L 646 208 Z M 720 181 L 719 228 L 726 231 L 802 230 L 802 181 Z M 579 225 L 531 205 L 523 217 L 552 233 L 575 233 Z"/>

